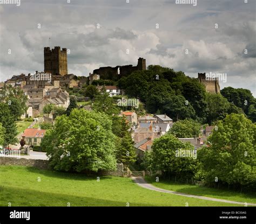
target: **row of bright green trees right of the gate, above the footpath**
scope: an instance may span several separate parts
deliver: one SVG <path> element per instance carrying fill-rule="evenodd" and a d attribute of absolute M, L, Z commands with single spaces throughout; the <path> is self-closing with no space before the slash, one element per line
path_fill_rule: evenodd
<path fill-rule="evenodd" d="M 165 177 L 194 178 L 210 185 L 256 188 L 256 124 L 244 114 L 228 114 L 219 121 L 208 145 L 199 148 L 196 157 L 177 157 L 177 150 L 194 149 L 173 135 L 179 131 L 176 128 L 154 140 L 152 151 L 144 157 L 147 169 L 161 171 Z M 187 136 L 184 130 L 180 134 Z"/>

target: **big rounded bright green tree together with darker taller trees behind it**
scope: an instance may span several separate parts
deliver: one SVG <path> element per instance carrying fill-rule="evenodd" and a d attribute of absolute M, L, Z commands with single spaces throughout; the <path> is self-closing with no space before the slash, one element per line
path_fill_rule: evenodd
<path fill-rule="evenodd" d="M 93 171 L 125 166 L 135 161 L 135 151 L 125 117 L 104 89 L 97 94 L 93 111 L 77 108 L 71 100 L 68 112 L 55 120 L 41 146 L 58 171 Z"/>

